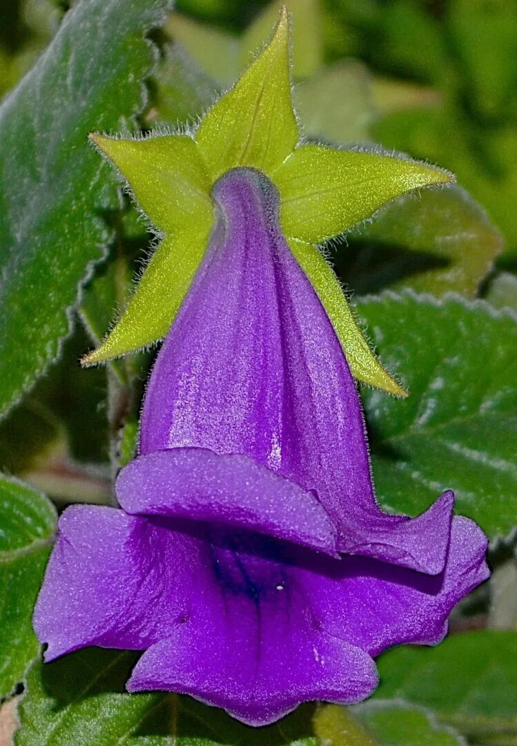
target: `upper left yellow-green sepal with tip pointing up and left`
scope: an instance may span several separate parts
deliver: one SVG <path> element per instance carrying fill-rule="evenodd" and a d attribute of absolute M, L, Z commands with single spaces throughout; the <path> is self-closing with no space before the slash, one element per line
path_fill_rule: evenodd
<path fill-rule="evenodd" d="M 186 135 L 90 139 L 117 167 L 153 225 L 174 233 L 212 221 L 212 183 L 196 142 Z"/>

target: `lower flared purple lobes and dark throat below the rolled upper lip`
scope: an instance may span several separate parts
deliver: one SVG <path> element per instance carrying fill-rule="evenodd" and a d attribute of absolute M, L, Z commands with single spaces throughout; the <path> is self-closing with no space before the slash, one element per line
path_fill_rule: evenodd
<path fill-rule="evenodd" d="M 486 539 L 454 518 L 443 574 L 331 557 L 256 533 L 75 506 L 60 518 L 34 626 L 45 658 L 145 649 L 128 689 L 184 692 L 253 725 L 375 688 L 370 656 L 438 642 L 487 575 Z"/>

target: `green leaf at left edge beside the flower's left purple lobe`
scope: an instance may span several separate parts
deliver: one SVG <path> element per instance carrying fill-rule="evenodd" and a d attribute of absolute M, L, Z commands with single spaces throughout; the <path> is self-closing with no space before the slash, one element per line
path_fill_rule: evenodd
<path fill-rule="evenodd" d="M 32 610 L 55 524 L 54 507 L 43 495 L 0 474 L 0 698 L 39 651 Z"/>

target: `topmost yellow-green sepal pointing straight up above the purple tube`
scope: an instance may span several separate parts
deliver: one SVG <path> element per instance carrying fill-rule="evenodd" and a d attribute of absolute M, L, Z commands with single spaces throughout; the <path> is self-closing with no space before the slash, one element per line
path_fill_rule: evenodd
<path fill-rule="evenodd" d="M 237 166 L 270 175 L 294 150 L 299 131 L 291 101 L 285 8 L 270 43 L 209 110 L 195 139 L 214 180 Z"/>

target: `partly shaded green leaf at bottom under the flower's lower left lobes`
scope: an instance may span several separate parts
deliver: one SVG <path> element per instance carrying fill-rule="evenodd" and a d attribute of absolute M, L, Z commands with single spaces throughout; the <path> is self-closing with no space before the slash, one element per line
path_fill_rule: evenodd
<path fill-rule="evenodd" d="M 16 746 L 317 746 L 310 706 L 279 725 L 246 727 L 174 694 L 127 694 L 138 653 L 86 648 L 37 661 L 19 706 Z"/>

